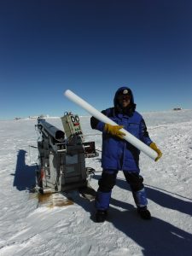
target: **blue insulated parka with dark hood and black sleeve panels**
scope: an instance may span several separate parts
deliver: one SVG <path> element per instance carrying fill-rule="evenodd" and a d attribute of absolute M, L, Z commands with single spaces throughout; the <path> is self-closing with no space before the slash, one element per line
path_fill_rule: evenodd
<path fill-rule="evenodd" d="M 134 104 L 134 98 L 131 92 L 131 107 L 127 109 L 127 112 L 121 112 L 117 96 L 120 90 L 127 89 L 127 87 L 121 87 L 117 90 L 114 96 L 114 108 L 108 108 L 103 110 L 109 119 L 112 119 L 118 125 L 123 125 L 126 131 L 129 131 L 132 135 L 140 139 L 143 143 L 149 145 L 152 143 L 150 137 L 148 137 L 147 127 L 140 113 L 135 111 L 136 105 Z M 127 143 L 125 140 L 113 137 L 104 131 L 104 123 L 92 117 L 90 119 L 90 125 L 93 129 L 102 131 L 102 168 L 124 170 L 129 172 L 140 172 L 139 170 L 139 154 L 140 151 Z"/>

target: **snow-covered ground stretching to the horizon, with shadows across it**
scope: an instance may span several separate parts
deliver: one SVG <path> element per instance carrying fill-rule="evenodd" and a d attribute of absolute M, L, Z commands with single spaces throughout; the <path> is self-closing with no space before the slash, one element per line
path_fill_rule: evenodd
<path fill-rule="evenodd" d="M 77 196 L 67 207 L 38 207 L 26 189 L 35 182 L 38 153 L 35 119 L 0 121 L 0 255 L 192 255 L 192 110 L 143 113 L 150 137 L 163 157 L 141 154 L 140 168 L 152 220 L 138 217 L 122 172 L 113 188 L 108 221 L 96 224 L 94 202 Z M 47 119 L 61 128 L 61 119 Z M 101 150 L 99 131 L 81 117 L 87 141 Z M 96 169 L 101 153 L 86 159 Z"/>

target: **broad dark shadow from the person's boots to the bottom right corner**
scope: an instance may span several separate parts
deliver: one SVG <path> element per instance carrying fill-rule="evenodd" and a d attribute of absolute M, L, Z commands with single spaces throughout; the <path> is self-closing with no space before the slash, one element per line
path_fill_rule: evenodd
<path fill-rule="evenodd" d="M 145 256 L 181 256 L 190 255 L 192 252 L 191 234 L 160 218 L 143 220 L 137 216 L 137 212 L 133 211 L 129 204 L 124 212 L 110 207 L 108 221 L 143 247 Z"/>

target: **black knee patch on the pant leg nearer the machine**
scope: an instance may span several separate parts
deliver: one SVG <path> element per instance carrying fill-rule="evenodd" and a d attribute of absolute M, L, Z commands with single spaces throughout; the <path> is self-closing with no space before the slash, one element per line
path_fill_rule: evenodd
<path fill-rule="evenodd" d="M 110 192 L 116 183 L 117 173 L 102 172 L 102 178 L 99 180 L 99 190 L 102 192 Z"/>

